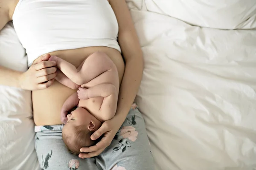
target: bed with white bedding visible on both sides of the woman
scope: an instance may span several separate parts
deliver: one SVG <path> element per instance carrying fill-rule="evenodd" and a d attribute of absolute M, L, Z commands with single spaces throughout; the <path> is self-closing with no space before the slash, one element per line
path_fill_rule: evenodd
<path fill-rule="evenodd" d="M 254 0 L 127 0 L 145 68 L 136 102 L 156 170 L 256 170 Z M 12 23 L 0 65 L 26 71 Z M 0 169 L 39 170 L 31 94 L 0 86 Z"/>

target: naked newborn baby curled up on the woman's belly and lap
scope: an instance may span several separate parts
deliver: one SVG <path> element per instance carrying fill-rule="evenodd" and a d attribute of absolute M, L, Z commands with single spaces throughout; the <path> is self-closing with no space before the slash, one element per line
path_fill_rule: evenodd
<path fill-rule="evenodd" d="M 102 52 L 91 54 L 78 68 L 56 56 L 49 60 L 57 62 L 59 70 L 55 79 L 58 82 L 72 89 L 79 88 L 61 109 L 61 121 L 65 124 L 63 141 L 71 153 L 79 154 L 81 147 L 95 144 L 90 139 L 92 133 L 116 113 L 119 92 L 117 68 Z M 68 114 L 73 108 L 76 109 Z"/>

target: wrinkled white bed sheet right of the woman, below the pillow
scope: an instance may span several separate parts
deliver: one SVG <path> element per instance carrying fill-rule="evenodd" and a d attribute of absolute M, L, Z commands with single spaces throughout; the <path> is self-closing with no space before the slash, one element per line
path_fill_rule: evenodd
<path fill-rule="evenodd" d="M 191 26 L 147 11 L 150 0 L 127 1 L 156 170 L 255 170 L 256 30 Z"/>

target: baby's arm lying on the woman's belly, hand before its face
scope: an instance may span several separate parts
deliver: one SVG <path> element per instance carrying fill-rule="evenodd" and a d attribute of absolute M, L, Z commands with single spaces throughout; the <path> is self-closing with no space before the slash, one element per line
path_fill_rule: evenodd
<path fill-rule="evenodd" d="M 70 95 L 67 100 L 64 102 L 62 108 L 61 108 L 61 122 L 66 124 L 67 123 L 67 114 L 68 112 L 76 107 L 79 103 L 79 98 L 77 96 L 77 93 L 73 93 Z"/>

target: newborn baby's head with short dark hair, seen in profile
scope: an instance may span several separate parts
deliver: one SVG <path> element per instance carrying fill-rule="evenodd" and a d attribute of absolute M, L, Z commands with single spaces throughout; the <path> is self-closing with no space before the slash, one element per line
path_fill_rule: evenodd
<path fill-rule="evenodd" d="M 84 108 L 77 108 L 67 115 L 67 123 L 62 129 L 62 138 L 73 154 L 79 154 L 81 147 L 96 143 L 90 136 L 99 129 L 102 123 Z"/>

